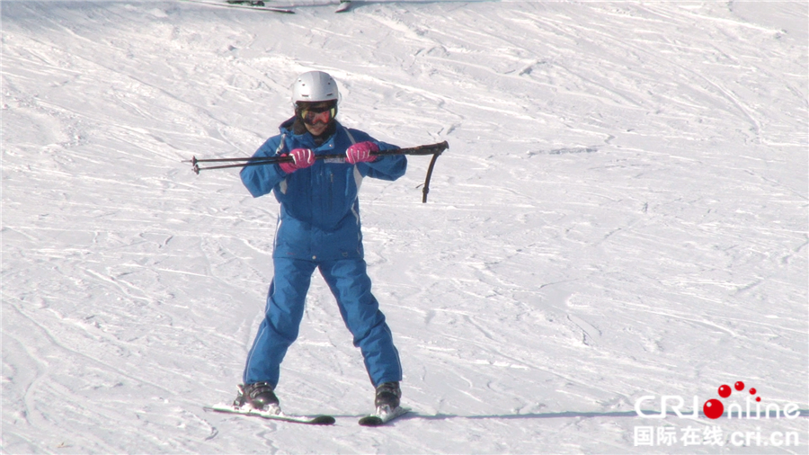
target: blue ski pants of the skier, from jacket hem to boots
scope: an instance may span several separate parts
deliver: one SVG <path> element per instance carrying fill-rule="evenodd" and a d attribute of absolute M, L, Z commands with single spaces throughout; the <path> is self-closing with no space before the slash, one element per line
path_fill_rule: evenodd
<path fill-rule="evenodd" d="M 244 384 L 266 381 L 278 385 L 280 363 L 298 338 L 312 273 L 319 269 L 334 298 L 345 326 L 360 348 L 374 387 L 402 380 L 402 365 L 393 335 L 371 294 L 371 282 L 363 259 L 314 262 L 274 258 L 275 276 L 267 295 L 264 320 L 244 366 Z"/>

